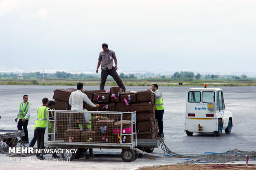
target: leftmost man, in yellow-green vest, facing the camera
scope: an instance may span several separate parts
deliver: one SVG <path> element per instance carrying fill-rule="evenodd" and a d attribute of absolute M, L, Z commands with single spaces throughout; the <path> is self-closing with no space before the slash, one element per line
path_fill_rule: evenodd
<path fill-rule="evenodd" d="M 24 143 L 29 143 L 28 142 L 28 120 L 30 117 L 30 112 L 31 112 L 31 103 L 28 102 L 28 95 L 25 94 L 23 96 L 23 101 L 19 103 L 19 111 L 15 118 L 15 122 L 17 122 L 17 119 L 19 118 L 18 130 L 22 131 L 22 126 L 23 126 L 25 136 L 22 136 L 21 139 L 23 140 Z"/>

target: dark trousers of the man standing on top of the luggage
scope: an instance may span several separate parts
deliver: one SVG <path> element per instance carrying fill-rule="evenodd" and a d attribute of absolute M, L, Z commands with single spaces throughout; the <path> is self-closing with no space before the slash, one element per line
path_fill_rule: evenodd
<path fill-rule="evenodd" d="M 103 70 L 101 69 L 101 78 L 100 78 L 100 90 L 104 89 L 106 80 L 107 80 L 107 76 L 110 75 L 111 77 L 114 78 L 114 80 L 116 81 L 117 85 L 124 90 L 126 90 L 126 87 L 124 87 L 123 82 L 121 80 L 121 78 L 118 76 L 115 68 L 112 69 L 107 69 L 107 70 Z"/>

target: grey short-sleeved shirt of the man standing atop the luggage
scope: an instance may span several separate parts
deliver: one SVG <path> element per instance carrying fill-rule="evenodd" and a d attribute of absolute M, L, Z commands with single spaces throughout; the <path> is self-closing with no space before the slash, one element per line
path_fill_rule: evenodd
<path fill-rule="evenodd" d="M 99 59 L 101 69 L 107 70 L 107 68 L 110 70 L 113 67 L 113 59 L 116 60 L 116 54 L 114 51 L 109 50 L 107 53 L 104 51 L 100 52 Z"/>

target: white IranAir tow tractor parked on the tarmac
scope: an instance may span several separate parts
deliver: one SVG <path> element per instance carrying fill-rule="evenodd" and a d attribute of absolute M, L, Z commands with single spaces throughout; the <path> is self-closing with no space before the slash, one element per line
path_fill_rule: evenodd
<path fill-rule="evenodd" d="M 220 88 L 187 89 L 185 131 L 193 133 L 214 133 L 221 136 L 222 130 L 230 133 L 233 126 L 232 113 L 225 109 L 223 90 Z"/>

